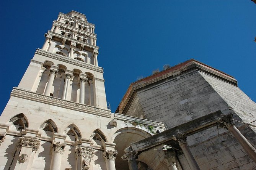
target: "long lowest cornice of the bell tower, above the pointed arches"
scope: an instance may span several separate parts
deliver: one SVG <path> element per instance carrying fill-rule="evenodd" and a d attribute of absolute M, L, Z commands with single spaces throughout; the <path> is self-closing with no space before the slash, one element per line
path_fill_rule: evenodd
<path fill-rule="evenodd" d="M 46 95 L 42 95 L 32 91 L 24 90 L 18 87 L 13 88 L 13 90 L 11 91 L 11 96 L 28 99 L 28 100 L 36 101 L 40 103 L 46 103 L 53 106 L 59 106 L 59 107 L 63 107 L 63 108 L 71 109 L 75 111 L 86 112 L 88 114 L 111 118 L 111 111 L 109 109 L 101 109 L 101 108 L 89 106 L 86 104 L 80 104 L 73 101 L 55 98 L 52 96 L 46 96 Z"/>

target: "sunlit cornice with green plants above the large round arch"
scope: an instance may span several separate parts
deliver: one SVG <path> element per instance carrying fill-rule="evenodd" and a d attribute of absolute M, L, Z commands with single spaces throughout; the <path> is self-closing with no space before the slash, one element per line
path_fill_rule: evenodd
<path fill-rule="evenodd" d="M 141 119 L 141 118 L 132 117 L 129 115 L 124 115 L 119 113 L 114 113 L 114 117 L 115 119 L 122 120 L 124 122 L 134 123 L 136 121 L 136 122 L 139 122 L 141 125 L 153 126 L 153 127 L 161 128 L 164 130 L 167 129 L 165 123 L 161 123 L 153 120 Z"/>

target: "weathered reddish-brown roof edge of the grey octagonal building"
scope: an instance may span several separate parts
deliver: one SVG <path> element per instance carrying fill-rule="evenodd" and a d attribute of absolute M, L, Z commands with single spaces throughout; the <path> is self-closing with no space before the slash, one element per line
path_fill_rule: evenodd
<path fill-rule="evenodd" d="M 139 88 L 145 87 L 152 83 L 158 82 L 160 80 L 166 79 L 167 77 L 171 77 L 174 75 L 181 74 L 182 72 L 189 71 L 195 67 L 200 71 L 206 72 L 210 75 L 218 77 L 224 81 L 227 81 L 228 83 L 231 83 L 231 84 L 237 86 L 236 79 L 234 77 L 232 77 L 231 75 L 228 75 L 222 71 L 215 69 L 214 67 L 208 66 L 208 65 L 201 63 L 200 61 L 197 61 L 195 59 L 189 59 L 183 63 L 180 63 L 173 67 L 170 67 L 169 69 L 158 72 L 157 74 L 150 75 L 148 77 L 145 77 L 144 79 L 141 79 L 141 80 L 131 83 L 129 85 L 125 95 L 123 96 L 121 102 L 119 103 L 119 105 L 116 109 L 116 112 L 120 113 L 120 111 L 121 111 L 121 114 L 122 114 L 122 111 L 126 107 L 127 103 L 129 102 L 129 100 L 132 97 L 135 90 L 138 90 Z"/>

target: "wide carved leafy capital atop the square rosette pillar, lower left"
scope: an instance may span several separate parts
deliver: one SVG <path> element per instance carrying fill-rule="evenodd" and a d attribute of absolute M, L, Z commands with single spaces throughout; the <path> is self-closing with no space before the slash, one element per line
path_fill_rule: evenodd
<path fill-rule="evenodd" d="M 17 148 L 22 146 L 31 146 L 33 150 L 37 151 L 39 148 L 40 141 L 37 138 L 19 137 L 17 142 Z"/>

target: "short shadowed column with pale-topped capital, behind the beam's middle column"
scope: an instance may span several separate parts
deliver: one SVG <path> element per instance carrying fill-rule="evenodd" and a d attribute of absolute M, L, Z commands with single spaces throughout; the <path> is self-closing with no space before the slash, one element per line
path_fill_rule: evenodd
<path fill-rule="evenodd" d="M 165 153 L 165 164 L 168 166 L 169 170 L 178 170 L 177 160 L 176 160 L 176 153 L 173 148 L 170 146 L 164 145 L 163 152 Z"/>

